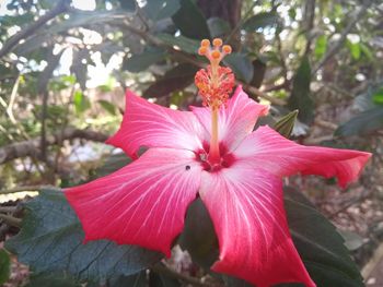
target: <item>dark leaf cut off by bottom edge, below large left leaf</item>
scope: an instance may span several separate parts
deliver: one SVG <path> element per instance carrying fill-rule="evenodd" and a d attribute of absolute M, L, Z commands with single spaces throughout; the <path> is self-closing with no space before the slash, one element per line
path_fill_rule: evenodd
<path fill-rule="evenodd" d="M 81 284 L 76 282 L 73 277 L 68 274 L 59 273 L 42 273 L 32 274 L 30 282 L 25 287 L 81 287 Z"/>

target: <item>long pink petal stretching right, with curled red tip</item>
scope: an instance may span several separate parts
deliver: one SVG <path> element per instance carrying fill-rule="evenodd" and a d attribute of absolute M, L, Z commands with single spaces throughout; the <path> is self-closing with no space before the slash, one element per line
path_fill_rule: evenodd
<path fill-rule="evenodd" d="M 304 146 L 289 141 L 269 127 L 260 127 L 234 152 L 274 175 L 337 177 L 340 187 L 356 181 L 371 154 L 351 150 Z"/>

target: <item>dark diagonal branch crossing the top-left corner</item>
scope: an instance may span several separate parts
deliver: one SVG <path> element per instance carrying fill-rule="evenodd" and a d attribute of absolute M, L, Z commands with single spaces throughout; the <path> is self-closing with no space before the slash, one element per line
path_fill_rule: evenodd
<path fill-rule="evenodd" d="M 57 3 L 54 9 L 48 11 L 46 14 L 40 16 L 36 22 L 33 24 L 23 27 L 18 34 L 9 38 L 2 46 L 0 50 L 0 58 L 4 57 L 7 53 L 9 53 L 13 48 L 22 40 L 31 37 L 39 27 L 42 27 L 44 24 L 46 24 L 49 20 L 56 17 L 57 15 L 66 12 L 69 8 L 70 1 L 68 0 L 61 0 Z"/>

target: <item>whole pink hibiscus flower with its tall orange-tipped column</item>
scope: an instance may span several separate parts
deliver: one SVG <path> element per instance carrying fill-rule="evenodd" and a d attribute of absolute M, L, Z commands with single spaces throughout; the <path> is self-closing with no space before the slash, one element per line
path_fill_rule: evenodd
<path fill-rule="evenodd" d="M 164 108 L 126 95 L 126 112 L 107 143 L 136 157 L 132 164 L 92 182 L 66 189 L 85 241 L 109 239 L 171 255 L 188 205 L 200 196 L 219 240 L 212 270 L 258 287 L 300 282 L 315 286 L 298 254 L 283 208 L 282 177 L 302 172 L 337 177 L 340 187 L 357 180 L 369 153 L 302 146 L 269 127 L 253 131 L 267 106 L 237 87 L 219 67 L 229 46 L 202 40 L 211 64 L 196 75 L 208 107 Z"/>

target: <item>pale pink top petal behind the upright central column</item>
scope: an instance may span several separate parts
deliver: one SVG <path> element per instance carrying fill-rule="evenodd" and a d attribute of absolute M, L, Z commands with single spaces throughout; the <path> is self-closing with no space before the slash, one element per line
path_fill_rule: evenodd
<path fill-rule="evenodd" d="M 220 142 L 229 151 L 233 151 L 253 131 L 258 117 L 267 115 L 269 107 L 248 98 L 242 86 L 236 88 L 227 106 L 227 108 L 221 107 L 220 109 L 218 135 Z M 207 132 L 211 134 L 210 108 L 192 107 L 192 110 Z"/>

